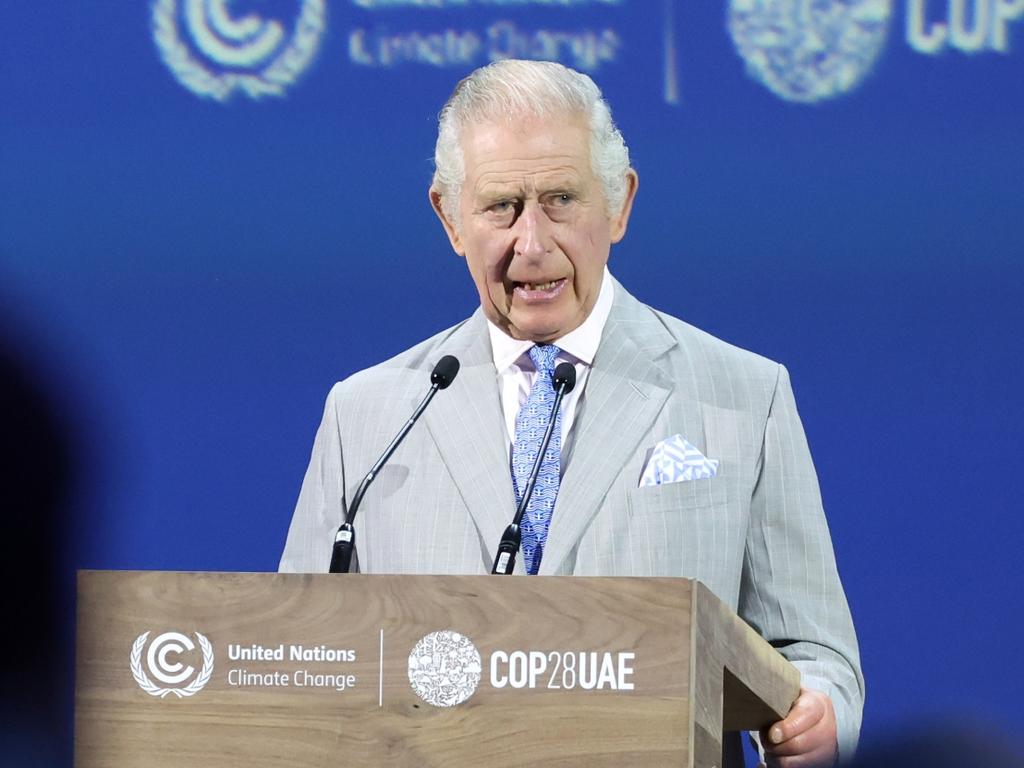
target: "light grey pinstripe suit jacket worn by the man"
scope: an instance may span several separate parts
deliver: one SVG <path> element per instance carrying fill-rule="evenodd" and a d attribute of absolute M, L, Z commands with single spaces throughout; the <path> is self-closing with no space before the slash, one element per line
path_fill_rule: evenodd
<path fill-rule="evenodd" d="M 334 386 L 281 570 L 328 569 L 341 500 L 444 354 L 462 370 L 367 494 L 355 523 L 359 567 L 489 572 L 515 499 L 480 310 Z M 653 445 L 677 433 L 720 460 L 717 476 L 638 487 Z M 616 283 L 563 456 L 540 572 L 698 579 L 796 664 L 805 685 L 830 695 L 840 752 L 850 756 L 863 700 L 857 640 L 785 369 Z"/>

